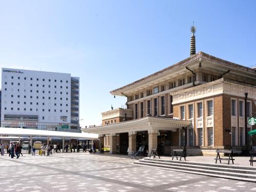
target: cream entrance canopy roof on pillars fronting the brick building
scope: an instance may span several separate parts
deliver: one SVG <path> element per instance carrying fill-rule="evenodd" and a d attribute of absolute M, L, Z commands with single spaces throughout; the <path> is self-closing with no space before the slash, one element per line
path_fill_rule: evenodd
<path fill-rule="evenodd" d="M 181 127 L 190 125 L 190 121 L 176 120 L 163 117 L 144 117 L 131 121 L 113 123 L 108 125 L 96 126 L 92 128 L 81 129 L 84 133 L 111 134 L 111 133 L 127 133 L 148 131 L 156 132 L 159 130 L 173 131 Z"/>

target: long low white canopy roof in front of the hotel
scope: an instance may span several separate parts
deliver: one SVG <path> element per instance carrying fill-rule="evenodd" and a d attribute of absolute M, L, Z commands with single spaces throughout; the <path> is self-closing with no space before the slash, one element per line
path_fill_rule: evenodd
<path fill-rule="evenodd" d="M 61 137 L 61 138 L 98 139 L 98 134 L 93 134 L 93 133 L 71 133 L 71 132 L 57 132 L 57 131 L 31 130 L 31 129 L 6 128 L 6 127 L 0 127 L 0 135 L 49 136 L 49 137 Z"/>

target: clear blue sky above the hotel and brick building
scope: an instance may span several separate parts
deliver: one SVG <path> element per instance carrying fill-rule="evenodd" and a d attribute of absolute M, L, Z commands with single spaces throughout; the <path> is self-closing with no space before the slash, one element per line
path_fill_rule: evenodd
<path fill-rule="evenodd" d="M 256 66 L 256 1 L 2 1 L 0 67 L 80 77 L 82 127 L 124 97 L 109 91 L 197 52 Z M 1 74 L 0 74 L 1 75 Z"/>

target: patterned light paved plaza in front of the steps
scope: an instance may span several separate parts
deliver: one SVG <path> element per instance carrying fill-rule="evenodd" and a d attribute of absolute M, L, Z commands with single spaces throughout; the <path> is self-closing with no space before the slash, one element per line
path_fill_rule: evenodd
<path fill-rule="evenodd" d="M 0 156 L 0 191 L 256 191 L 256 184 L 135 165 L 85 153 Z"/>

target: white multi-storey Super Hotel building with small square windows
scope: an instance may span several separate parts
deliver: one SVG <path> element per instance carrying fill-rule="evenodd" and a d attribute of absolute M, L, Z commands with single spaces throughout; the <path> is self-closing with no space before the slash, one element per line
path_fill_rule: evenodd
<path fill-rule="evenodd" d="M 79 77 L 2 68 L 1 126 L 80 132 Z"/>

